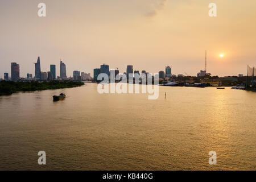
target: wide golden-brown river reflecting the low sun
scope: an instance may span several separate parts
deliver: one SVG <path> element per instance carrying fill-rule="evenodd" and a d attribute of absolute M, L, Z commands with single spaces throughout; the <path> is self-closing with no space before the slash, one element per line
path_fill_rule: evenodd
<path fill-rule="evenodd" d="M 255 170 L 255 106 L 256 93 L 230 88 L 160 86 L 148 100 L 86 83 L 0 96 L 0 169 Z"/>

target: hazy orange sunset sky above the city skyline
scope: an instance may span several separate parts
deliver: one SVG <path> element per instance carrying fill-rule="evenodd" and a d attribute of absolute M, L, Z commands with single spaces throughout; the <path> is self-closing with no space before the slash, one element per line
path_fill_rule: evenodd
<path fill-rule="evenodd" d="M 40 2 L 46 17 L 38 16 Z M 13 61 L 21 77 L 34 76 L 38 56 L 41 70 L 56 64 L 58 76 L 60 59 L 68 77 L 104 63 L 150 73 L 170 65 L 173 74 L 196 76 L 205 49 L 208 73 L 246 75 L 247 64 L 256 65 L 255 22 L 255 0 L 1 0 L 0 77 Z"/>

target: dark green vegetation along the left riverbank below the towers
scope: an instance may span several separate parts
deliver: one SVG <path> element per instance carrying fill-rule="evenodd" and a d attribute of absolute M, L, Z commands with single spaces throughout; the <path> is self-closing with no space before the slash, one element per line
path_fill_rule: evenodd
<path fill-rule="evenodd" d="M 10 95 L 16 92 L 34 92 L 39 90 L 49 90 L 49 89 L 65 89 L 73 88 L 76 86 L 84 85 L 83 82 L 73 82 L 73 81 L 49 81 L 49 82 L 39 82 L 39 81 L 0 81 L 0 96 Z"/>

